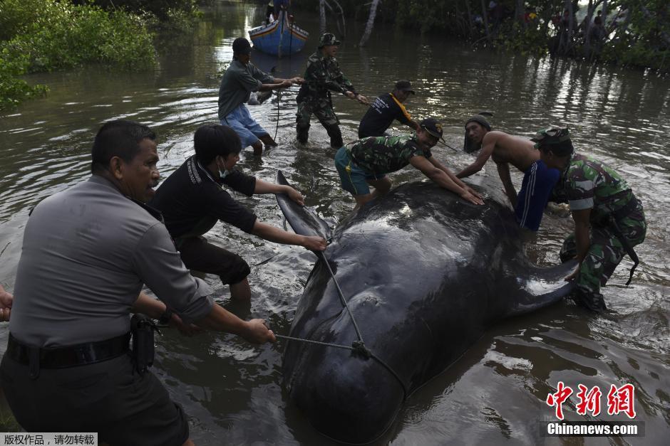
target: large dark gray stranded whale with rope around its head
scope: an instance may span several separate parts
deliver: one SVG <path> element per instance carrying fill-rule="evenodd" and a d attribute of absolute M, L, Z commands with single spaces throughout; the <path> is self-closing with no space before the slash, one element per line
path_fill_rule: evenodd
<path fill-rule="evenodd" d="M 485 178 L 473 187 L 484 193 L 484 206 L 432 183 L 403 184 L 342 222 L 324 253 L 367 348 L 408 393 L 491 324 L 572 289 L 563 277 L 574 262 L 539 268 L 522 253 L 500 182 Z M 327 235 L 304 222 L 305 208 L 286 196 L 278 201 L 294 230 Z M 323 258 L 309 275 L 290 336 L 351 346 L 356 331 Z M 346 349 L 287 341 L 283 369 L 289 396 L 311 425 L 340 442 L 375 440 L 406 398 L 380 362 Z"/>

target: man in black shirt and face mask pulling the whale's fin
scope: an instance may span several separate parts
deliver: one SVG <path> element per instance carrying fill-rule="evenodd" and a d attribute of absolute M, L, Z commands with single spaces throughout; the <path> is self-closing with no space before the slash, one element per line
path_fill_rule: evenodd
<path fill-rule="evenodd" d="M 230 297 L 248 301 L 247 275 L 251 270 L 239 255 L 208 243 L 203 234 L 223 221 L 275 243 L 300 245 L 313 251 L 326 249 L 321 237 L 288 233 L 258 218 L 227 193 L 222 185 L 251 196 L 254 193 L 287 193 L 304 204 L 301 194 L 290 186 L 268 183 L 232 170 L 239 160 L 239 137 L 230 127 L 205 124 L 195 132 L 195 156 L 160 185 L 151 206 L 163 213 L 165 225 L 190 270 L 218 275 L 230 285 Z"/>

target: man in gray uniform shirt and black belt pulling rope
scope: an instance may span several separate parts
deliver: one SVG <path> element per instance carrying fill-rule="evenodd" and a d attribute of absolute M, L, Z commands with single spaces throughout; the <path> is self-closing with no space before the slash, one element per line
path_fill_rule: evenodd
<path fill-rule="evenodd" d="M 26 224 L 2 388 L 29 432 L 192 445 L 182 408 L 138 367 L 139 349 L 129 353 L 129 314 L 254 343 L 274 334 L 262 319 L 245 322 L 215 304 L 183 265 L 160 213 L 145 206 L 159 176 L 148 127 L 108 122 L 92 156 L 91 178 L 41 201 Z M 160 300 L 140 293 L 143 284 Z"/>

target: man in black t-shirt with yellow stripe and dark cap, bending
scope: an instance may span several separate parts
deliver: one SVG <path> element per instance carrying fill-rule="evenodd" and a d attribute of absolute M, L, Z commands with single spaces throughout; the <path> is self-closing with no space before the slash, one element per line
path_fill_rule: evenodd
<path fill-rule="evenodd" d="M 418 130 L 418 124 L 412 120 L 403 102 L 413 95 L 412 85 L 408 80 L 398 80 L 393 92 L 379 96 L 372 104 L 359 125 L 359 138 L 388 136 L 386 129 L 393 120 Z"/>

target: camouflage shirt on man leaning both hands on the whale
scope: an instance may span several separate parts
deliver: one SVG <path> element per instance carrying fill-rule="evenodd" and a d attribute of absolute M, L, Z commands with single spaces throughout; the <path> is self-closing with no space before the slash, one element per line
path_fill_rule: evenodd
<path fill-rule="evenodd" d="M 401 137 L 368 137 L 346 144 L 345 150 L 357 166 L 371 174 L 388 174 L 409 164 L 412 156 L 433 156 L 421 149 L 416 134 Z"/>

